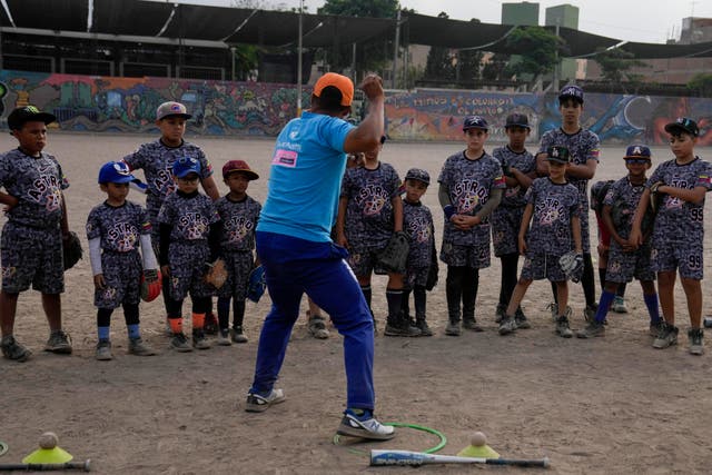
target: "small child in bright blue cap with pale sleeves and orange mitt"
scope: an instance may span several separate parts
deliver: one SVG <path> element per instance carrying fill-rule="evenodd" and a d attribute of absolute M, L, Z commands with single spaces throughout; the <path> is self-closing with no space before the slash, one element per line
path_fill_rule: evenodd
<path fill-rule="evenodd" d="M 139 329 L 141 271 L 147 278 L 157 280 L 158 264 L 151 247 L 151 225 L 146 210 L 126 199 L 129 182 L 135 179 L 126 164 L 105 164 L 99 170 L 99 187 L 107 194 L 107 199 L 96 206 L 87 218 L 89 259 L 96 289 L 93 303 L 98 308 L 99 342 L 96 358 L 99 360 L 113 358 L 110 324 L 111 314 L 119 306 L 123 307 L 129 333 L 129 353 L 138 356 L 156 354 L 144 343 Z M 139 246 L 141 255 L 138 251 Z"/>

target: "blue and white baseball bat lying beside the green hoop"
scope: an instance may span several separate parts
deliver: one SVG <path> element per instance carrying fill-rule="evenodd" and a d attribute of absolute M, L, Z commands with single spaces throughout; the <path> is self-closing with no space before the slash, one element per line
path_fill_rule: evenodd
<path fill-rule="evenodd" d="M 487 464 L 546 468 L 548 467 L 548 457 L 523 461 L 515 458 L 458 457 L 455 455 L 434 455 L 411 451 L 370 451 L 370 465 L 419 466 L 425 464 Z"/>

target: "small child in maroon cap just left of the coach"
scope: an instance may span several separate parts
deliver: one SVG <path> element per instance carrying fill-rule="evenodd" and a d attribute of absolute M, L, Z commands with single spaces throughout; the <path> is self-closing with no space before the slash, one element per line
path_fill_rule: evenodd
<path fill-rule="evenodd" d="M 229 335 L 235 343 L 247 343 L 243 331 L 245 318 L 245 293 L 250 270 L 255 268 L 255 228 L 259 219 L 261 205 L 247 195 L 251 180 L 259 178 L 244 160 L 230 160 L 222 167 L 222 179 L 230 188 L 215 207 L 222 221 L 220 254 L 225 259 L 228 279 L 218 291 L 218 320 L 220 331 L 218 345 L 230 345 Z M 230 299 L 233 299 L 233 330 L 229 331 Z"/>

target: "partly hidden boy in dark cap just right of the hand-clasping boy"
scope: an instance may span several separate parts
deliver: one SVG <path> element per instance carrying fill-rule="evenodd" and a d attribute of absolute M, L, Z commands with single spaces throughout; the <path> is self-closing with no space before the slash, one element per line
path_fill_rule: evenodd
<path fill-rule="evenodd" d="M 525 148 L 530 130 L 530 121 L 525 115 L 510 115 L 504 125 L 504 131 L 510 138 L 510 144 L 495 148 L 492 152 L 492 156 L 502 164 L 504 180 L 507 185 L 502 202 L 492 211 L 492 244 L 494 246 L 494 255 L 500 258 L 502 264 L 497 323 L 502 320 L 504 310 L 512 298 L 514 286 L 516 286 L 516 271 L 520 260 L 516 237 L 522 227 L 522 215 L 526 206 L 524 194 L 532 185 L 532 179 L 536 178 L 536 160 Z M 517 328 L 530 327 L 521 307 L 517 307 L 514 318 Z"/>

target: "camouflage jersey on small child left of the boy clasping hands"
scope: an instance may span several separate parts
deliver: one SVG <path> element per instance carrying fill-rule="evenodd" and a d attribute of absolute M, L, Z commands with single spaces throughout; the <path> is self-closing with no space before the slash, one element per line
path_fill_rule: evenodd
<path fill-rule="evenodd" d="M 422 202 L 403 200 L 403 230 L 408 236 L 407 268 L 428 268 L 433 259 L 435 229 L 431 209 Z"/>

